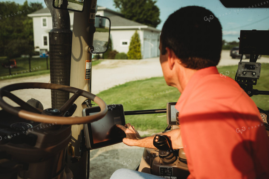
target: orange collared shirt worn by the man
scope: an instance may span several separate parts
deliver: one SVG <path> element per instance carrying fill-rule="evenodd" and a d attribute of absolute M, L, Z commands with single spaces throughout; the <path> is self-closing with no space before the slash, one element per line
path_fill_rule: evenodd
<path fill-rule="evenodd" d="M 216 67 L 198 70 L 175 108 L 188 179 L 269 177 L 269 140 L 252 99 Z"/>

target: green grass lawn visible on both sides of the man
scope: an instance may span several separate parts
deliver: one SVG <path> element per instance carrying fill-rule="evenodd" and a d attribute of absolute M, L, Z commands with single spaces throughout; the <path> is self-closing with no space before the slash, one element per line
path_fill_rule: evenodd
<path fill-rule="evenodd" d="M 237 66 L 227 66 L 218 68 L 219 72 L 234 79 Z M 228 75 L 229 74 L 229 75 Z M 254 86 L 254 89 L 269 90 L 269 65 L 262 64 L 261 77 Z M 169 87 L 163 77 L 150 78 L 146 80 L 131 81 L 123 85 L 118 85 L 109 90 L 97 94 L 106 101 L 106 104 L 123 104 L 124 111 L 162 109 L 166 108 L 167 102 L 177 102 L 180 92 L 174 87 Z M 268 96 L 269 97 L 269 96 Z M 251 98 L 256 105 L 262 109 L 268 109 L 268 98 L 265 95 L 256 95 Z M 136 129 L 154 132 L 162 131 L 166 128 L 166 113 L 127 115 L 126 123 L 133 124 Z"/>

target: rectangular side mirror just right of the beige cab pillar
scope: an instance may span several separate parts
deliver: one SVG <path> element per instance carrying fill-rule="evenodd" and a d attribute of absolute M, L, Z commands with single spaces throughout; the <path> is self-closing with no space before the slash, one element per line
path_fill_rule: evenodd
<path fill-rule="evenodd" d="M 108 49 L 110 37 L 110 19 L 103 16 L 95 16 L 95 33 L 93 46 L 95 54 L 105 53 Z"/>

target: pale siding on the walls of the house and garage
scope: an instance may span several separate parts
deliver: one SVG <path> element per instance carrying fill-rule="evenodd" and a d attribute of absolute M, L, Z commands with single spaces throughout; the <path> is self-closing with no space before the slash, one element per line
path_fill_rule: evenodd
<path fill-rule="evenodd" d="M 107 10 L 97 10 L 97 15 L 101 16 L 113 16 L 118 15 L 118 13 L 113 13 Z M 49 44 L 49 38 L 48 33 L 52 29 L 52 18 L 50 13 L 43 13 L 43 14 L 31 14 L 33 17 L 33 37 L 34 37 L 34 46 L 35 51 L 49 51 L 49 45 L 44 46 L 44 36 L 47 36 L 47 42 Z M 70 15 L 70 25 L 71 30 L 73 30 L 73 21 L 74 21 L 74 12 L 69 12 Z M 42 18 L 47 19 L 47 27 L 42 27 Z M 131 24 L 134 24 L 131 22 Z M 113 29 L 113 24 L 111 24 L 111 40 L 112 44 L 109 45 L 108 48 L 111 48 L 112 50 L 116 50 L 119 53 L 128 53 L 129 51 L 129 45 L 130 40 L 132 36 L 134 35 L 135 31 L 137 30 L 137 33 L 139 35 L 138 41 L 140 41 L 141 45 L 141 54 L 142 58 L 153 58 L 159 56 L 159 35 L 160 31 L 156 29 L 152 30 L 154 28 L 147 28 L 147 26 L 141 24 L 142 26 L 122 26 L 118 29 Z M 129 28 L 129 29 L 128 29 Z M 127 44 L 122 44 L 122 42 L 126 42 Z"/>

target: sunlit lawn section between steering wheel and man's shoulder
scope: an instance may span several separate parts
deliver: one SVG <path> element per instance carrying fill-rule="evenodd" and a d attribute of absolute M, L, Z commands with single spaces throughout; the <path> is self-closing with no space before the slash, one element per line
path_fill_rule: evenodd
<path fill-rule="evenodd" d="M 123 104 L 124 111 L 163 109 L 167 102 L 177 102 L 180 92 L 169 87 L 163 77 L 127 82 L 109 90 L 100 92 L 98 96 L 106 104 Z M 166 128 L 166 113 L 128 115 L 126 123 L 134 124 L 139 130 L 154 129 L 156 132 Z"/>

